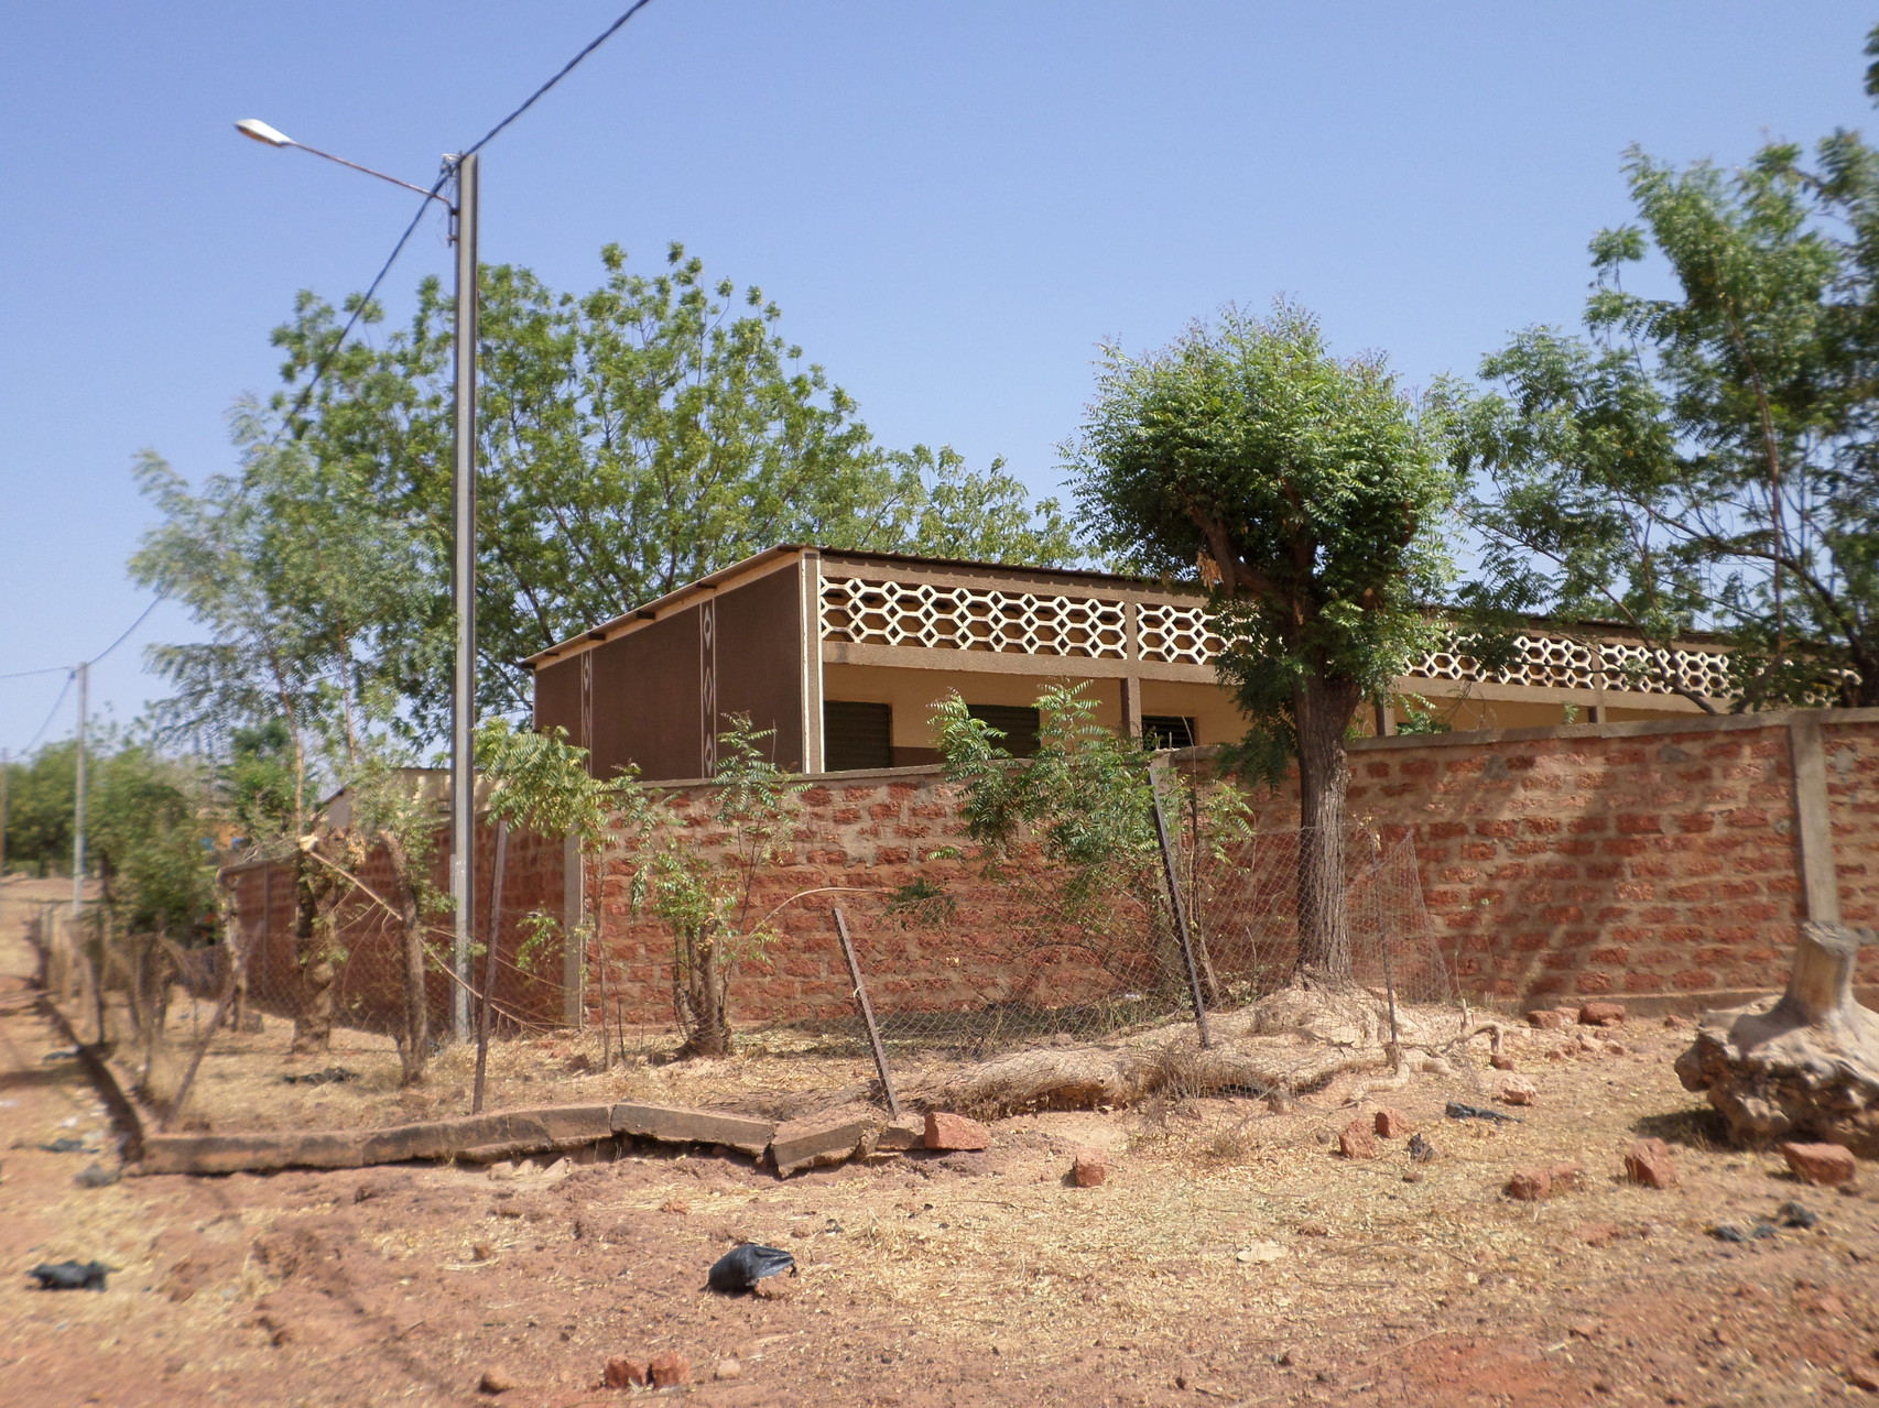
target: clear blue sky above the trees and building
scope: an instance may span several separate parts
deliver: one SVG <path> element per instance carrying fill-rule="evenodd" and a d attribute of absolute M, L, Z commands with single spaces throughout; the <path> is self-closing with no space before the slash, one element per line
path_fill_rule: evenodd
<path fill-rule="evenodd" d="M 152 447 L 231 466 L 297 289 L 359 289 L 419 184 L 626 0 L 11 9 L 0 51 L 0 674 L 103 650 Z M 755 282 L 889 445 L 1039 490 L 1103 338 L 1291 293 L 1422 385 L 1571 323 L 1629 143 L 1687 161 L 1862 126 L 1870 6 L 1809 0 L 656 0 L 485 152 L 483 257 L 560 287 L 684 240 Z M 438 222 L 389 289 L 447 274 Z M 132 719 L 160 606 L 94 676 Z M 0 680 L 0 747 L 60 676 Z M 51 738 L 71 730 L 71 702 Z"/>

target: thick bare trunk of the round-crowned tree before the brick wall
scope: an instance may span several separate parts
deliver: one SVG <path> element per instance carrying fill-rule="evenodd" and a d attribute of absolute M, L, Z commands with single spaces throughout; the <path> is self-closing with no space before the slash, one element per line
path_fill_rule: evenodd
<path fill-rule="evenodd" d="M 1295 978 L 1342 986 L 1351 976 L 1343 912 L 1343 792 L 1351 779 L 1343 734 L 1362 689 L 1306 678 L 1295 695 L 1298 728 L 1298 963 Z"/>

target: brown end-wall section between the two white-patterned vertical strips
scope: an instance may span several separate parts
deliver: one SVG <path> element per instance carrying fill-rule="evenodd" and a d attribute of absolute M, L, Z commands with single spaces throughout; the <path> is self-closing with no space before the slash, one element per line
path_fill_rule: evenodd
<path fill-rule="evenodd" d="M 643 777 L 705 772 L 699 608 L 594 651 L 594 775 L 637 762 Z"/>

